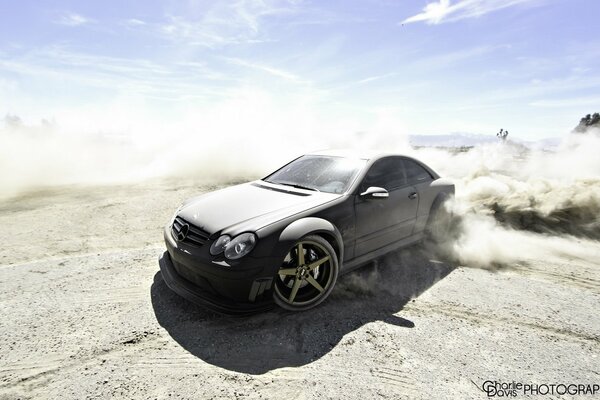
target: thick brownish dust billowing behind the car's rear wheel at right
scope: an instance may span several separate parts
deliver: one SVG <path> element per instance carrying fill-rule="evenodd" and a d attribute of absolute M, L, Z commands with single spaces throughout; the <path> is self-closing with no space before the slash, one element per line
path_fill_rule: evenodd
<path fill-rule="evenodd" d="M 507 142 L 463 153 L 415 152 L 456 184 L 456 216 L 443 250 L 462 265 L 496 268 L 533 259 L 600 259 L 600 132 L 568 134 L 559 148 Z"/>

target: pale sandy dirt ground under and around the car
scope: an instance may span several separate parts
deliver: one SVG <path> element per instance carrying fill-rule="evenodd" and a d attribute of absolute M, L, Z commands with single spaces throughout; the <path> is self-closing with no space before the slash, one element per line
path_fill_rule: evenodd
<path fill-rule="evenodd" d="M 190 304 L 159 272 L 162 228 L 214 188 L 1 202 L 0 398 L 465 399 L 485 398 L 486 380 L 600 381 L 600 265 L 585 260 L 491 271 L 415 246 L 344 276 L 308 312 Z"/>

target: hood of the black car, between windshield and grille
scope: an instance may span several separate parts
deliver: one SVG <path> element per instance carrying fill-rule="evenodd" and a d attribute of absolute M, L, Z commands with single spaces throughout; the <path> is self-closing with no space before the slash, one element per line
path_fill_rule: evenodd
<path fill-rule="evenodd" d="M 184 203 L 178 215 L 211 235 L 235 235 L 258 230 L 339 197 L 255 181 L 195 197 Z"/>

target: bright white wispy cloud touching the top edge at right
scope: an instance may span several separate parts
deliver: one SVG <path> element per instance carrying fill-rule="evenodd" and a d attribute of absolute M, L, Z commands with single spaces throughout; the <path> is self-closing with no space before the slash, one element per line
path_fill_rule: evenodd
<path fill-rule="evenodd" d="M 539 3 L 540 0 L 439 0 L 429 3 L 420 14 L 413 15 L 402 21 L 403 24 L 425 22 L 437 25 L 465 18 L 475 18 L 482 15 L 525 3 Z"/>

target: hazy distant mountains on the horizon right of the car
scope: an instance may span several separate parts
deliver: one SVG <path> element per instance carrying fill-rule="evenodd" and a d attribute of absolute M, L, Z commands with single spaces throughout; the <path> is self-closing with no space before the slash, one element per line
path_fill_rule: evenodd
<path fill-rule="evenodd" d="M 496 143 L 500 139 L 492 135 L 479 135 L 475 133 L 456 132 L 445 135 L 409 135 L 408 140 L 412 146 L 419 147 L 471 147 L 486 143 Z M 523 144 L 531 148 L 553 148 L 560 144 L 560 138 L 547 138 L 537 141 L 511 139 L 510 141 Z"/>

